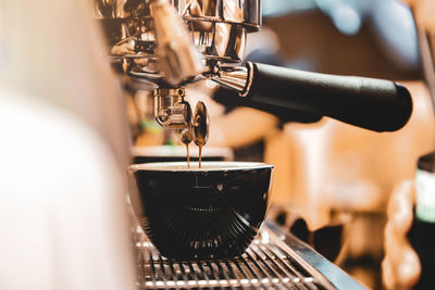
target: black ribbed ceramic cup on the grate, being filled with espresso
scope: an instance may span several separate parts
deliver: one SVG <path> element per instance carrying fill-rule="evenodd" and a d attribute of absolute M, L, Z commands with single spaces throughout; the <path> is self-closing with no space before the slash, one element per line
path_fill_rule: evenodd
<path fill-rule="evenodd" d="M 132 197 L 147 237 L 169 259 L 240 255 L 268 212 L 273 166 L 253 162 L 136 164 Z"/>

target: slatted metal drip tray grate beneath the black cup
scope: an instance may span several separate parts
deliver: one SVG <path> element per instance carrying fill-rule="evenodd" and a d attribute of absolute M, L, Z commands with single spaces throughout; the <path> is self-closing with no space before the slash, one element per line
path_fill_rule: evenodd
<path fill-rule="evenodd" d="M 135 236 L 142 289 L 335 289 L 265 227 L 241 256 L 231 260 L 167 260 L 140 228 Z"/>

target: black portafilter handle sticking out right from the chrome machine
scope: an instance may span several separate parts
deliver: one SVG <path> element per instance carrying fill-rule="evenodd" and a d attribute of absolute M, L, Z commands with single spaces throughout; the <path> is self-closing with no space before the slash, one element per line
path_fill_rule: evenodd
<path fill-rule="evenodd" d="M 412 113 L 408 89 L 394 81 L 310 73 L 247 63 L 248 102 L 265 104 L 263 111 L 289 109 L 328 116 L 374 131 L 395 131 Z M 268 110 L 269 109 L 269 110 Z"/>

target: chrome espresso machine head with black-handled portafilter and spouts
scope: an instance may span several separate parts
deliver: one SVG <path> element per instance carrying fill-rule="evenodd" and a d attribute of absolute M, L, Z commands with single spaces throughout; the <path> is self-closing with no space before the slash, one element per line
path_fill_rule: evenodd
<path fill-rule="evenodd" d="M 207 141 L 206 105 L 192 114 L 185 101 L 186 85 L 203 79 L 273 114 L 328 116 L 374 131 L 401 128 L 412 112 L 408 90 L 393 81 L 241 65 L 247 35 L 261 28 L 261 0 L 95 0 L 94 14 L 109 39 L 104 55 L 152 91 L 157 122 L 185 143 Z"/>

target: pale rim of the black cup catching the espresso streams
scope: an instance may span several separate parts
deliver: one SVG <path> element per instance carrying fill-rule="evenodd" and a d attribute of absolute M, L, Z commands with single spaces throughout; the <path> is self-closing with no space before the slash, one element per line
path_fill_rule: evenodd
<path fill-rule="evenodd" d="M 190 168 L 187 168 L 187 162 L 151 162 L 133 164 L 128 166 L 129 172 L 172 172 L 172 173 L 204 173 L 204 172 L 233 172 L 233 171 L 252 171 L 273 168 L 273 165 L 262 162 L 246 162 L 246 161 L 204 161 L 201 162 L 201 168 L 198 167 L 198 162 L 190 162 Z"/>

